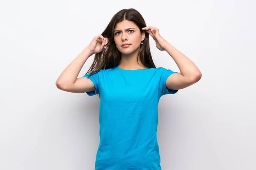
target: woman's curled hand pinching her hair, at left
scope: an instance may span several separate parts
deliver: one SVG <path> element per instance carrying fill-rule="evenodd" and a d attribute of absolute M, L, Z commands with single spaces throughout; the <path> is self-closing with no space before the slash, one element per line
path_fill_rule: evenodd
<path fill-rule="evenodd" d="M 102 35 L 98 35 L 93 38 L 87 48 L 92 51 L 93 54 L 97 54 L 102 52 L 104 49 L 107 48 L 108 38 L 104 38 Z"/>

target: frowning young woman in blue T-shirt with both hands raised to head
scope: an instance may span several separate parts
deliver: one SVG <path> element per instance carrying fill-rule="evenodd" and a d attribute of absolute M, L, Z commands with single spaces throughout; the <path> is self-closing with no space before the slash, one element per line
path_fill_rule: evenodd
<path fill-rule="evenodd" d="M 156 68 L 149 48 L 167 51 L 180 73 Z M 84 77 L 78 77 L 87 59 L 95 54 Z M 100 95 L 100 143 L 95 170 L 161 170 L 157 144 L 158 102 L 201 79 L 201 72 L 186 56 L 146 26 L 135 9 L 123 9 L 102 34 L 61 73 L 56 85 L 63 91 Z"/>

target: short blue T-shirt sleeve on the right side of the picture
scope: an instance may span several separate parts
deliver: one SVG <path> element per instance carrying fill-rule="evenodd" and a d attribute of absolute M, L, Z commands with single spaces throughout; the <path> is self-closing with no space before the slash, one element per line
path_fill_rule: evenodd
<path fill-rule="evenodd" d="M 160 84 L 159 84 L 160 96 L 163 96 L 165 94 L 175 94 L 175 93 L 177 93 L 178 90 L 168 89 L 166 87 L 166 80 L 167 80 L 167 78 L 171 74 L 174 74 L 174 73 L 177 73 L 177 72 L 169 70 L 169 69 L 166 69 L 166 68 L 161 68 L 161 72 L 160 73 L 161 73 L 161 75 L 160 75 Z"/>

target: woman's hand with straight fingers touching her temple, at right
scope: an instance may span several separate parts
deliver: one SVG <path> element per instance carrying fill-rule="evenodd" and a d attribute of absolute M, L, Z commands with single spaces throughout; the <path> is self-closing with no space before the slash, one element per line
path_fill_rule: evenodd
<path fill-rule="evenodd" d="M 148 27 L 143 27 L 142 30 L 145 30 L 153 40 L 156 42 L 156 46 L 159 50 L 164 51 L 164 45 L 166 44 L 166 40 L 160 36 L 159 30 L 157 27 L 153 26 L 148 26 Z"/>

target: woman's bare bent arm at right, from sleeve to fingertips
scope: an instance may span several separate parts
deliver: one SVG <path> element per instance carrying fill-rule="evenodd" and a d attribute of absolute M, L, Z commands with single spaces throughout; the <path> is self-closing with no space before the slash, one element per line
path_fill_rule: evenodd
<path fill-rule="evenodd" d="M 167 51 L 167 53 L 174 59 L 180 73 L 171 74 L 166 80 L 166 87 L 173 90 L 179 90 L 198 82 L 202 73 L 198 67 L 184 54 L 174 48 L 168 41 L 160 36 L 159 30 L 156 27 L 144 27 L 142 30 L 148 32 L 156 42 L 156 47 L 160 51 Z"/>

